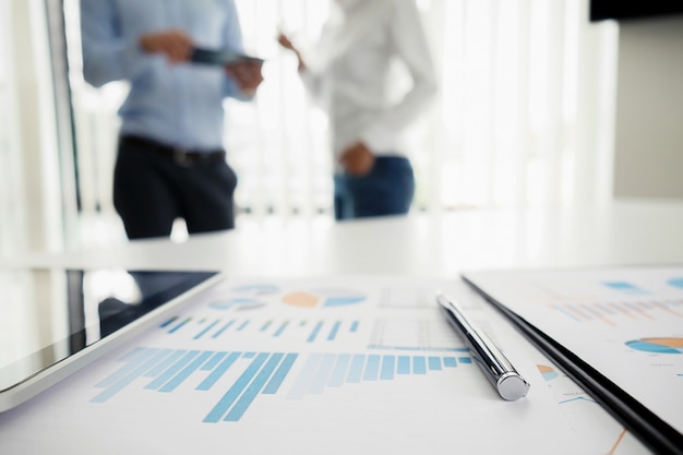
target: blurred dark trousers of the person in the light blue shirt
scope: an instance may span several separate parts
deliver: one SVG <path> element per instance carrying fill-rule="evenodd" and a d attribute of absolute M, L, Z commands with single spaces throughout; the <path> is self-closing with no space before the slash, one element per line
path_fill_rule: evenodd
<path fill-rule="evenodd" d="M 130 239 L 168 237 L 183 218 L 189 234 L 232 229 L 237 177 L 225 157 L 179 163 L 143 141 L 119 142 L 113 205 Z"/>

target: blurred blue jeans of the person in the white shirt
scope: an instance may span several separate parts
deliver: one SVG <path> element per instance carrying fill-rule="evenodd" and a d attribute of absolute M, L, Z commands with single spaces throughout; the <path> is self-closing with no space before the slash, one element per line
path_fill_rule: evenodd
<path fill-rule="evenodd" d="M 380 156 L 367 176 L 338 173 L 334 183 L 336 219 L 405 215 L 415 193 L 412 166 L 400 156 Z"/>

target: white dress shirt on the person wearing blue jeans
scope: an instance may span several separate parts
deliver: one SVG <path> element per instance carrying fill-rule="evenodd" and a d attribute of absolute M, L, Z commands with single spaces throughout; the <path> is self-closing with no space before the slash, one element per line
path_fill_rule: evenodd
<path fill-rule="evenodd" d="M 400 132 L 436 92 L 415 0 L 336 0 L 311 57 L 301 77 L 329 117 L 335 156 L 356 142 L 375 156 L 406 155 Z M 395 61 L 410 75 L 400 93 Z"/>

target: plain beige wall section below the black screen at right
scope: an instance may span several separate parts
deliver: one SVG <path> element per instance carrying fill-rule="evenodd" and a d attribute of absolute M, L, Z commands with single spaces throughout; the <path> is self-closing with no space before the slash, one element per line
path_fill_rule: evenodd
<path fill-rule="evenodd" d="M 622 22 L 614 195 L 683 197 L 683 16 Z"/>

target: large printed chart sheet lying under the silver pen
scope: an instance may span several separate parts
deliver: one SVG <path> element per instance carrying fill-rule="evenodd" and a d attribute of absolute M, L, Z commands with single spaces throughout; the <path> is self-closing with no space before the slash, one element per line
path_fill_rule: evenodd
<path fill-rule="evenodd" d="M 527 397 L 500 398 L 438 290 L 514 359 Z M 561 405 L 548 384 L 583 396 L 566 381 L 457 279 L 225 279 L 1 414 L 0 453 L 643 453 L 595 403 Z"/>

